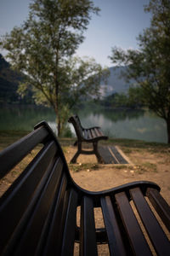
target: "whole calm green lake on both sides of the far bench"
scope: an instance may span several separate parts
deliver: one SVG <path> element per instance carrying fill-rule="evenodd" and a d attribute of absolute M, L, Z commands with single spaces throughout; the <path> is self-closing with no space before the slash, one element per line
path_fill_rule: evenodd
<path fill-rule="evenodd" d="M 148 142 L 167 143 L 167 128 L 163 119 L 142 110 L 89 110 L 78 112 L 84 127 L 99 125 L 109 137 L 139 139 Z M 48 121 L 56 131 L 55 114 L 48 108 L 15 106 L 0 109 L 0 131 L 31 131 L 41 120 Z M 74 129 L 71 125 L 71 131 Z"/>

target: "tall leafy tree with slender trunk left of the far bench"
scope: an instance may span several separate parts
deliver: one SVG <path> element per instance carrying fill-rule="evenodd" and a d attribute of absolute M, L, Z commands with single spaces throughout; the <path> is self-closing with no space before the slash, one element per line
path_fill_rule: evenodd
<path fill-rule="evenodd" d="M 72 58 L 84 39 L 90 14 L 98 12 L 89 0 L 33 0 L 23 26 L 14 27 L 0 41 L 13 67 L 26 74 L 20 94 L 31 86 L 37 103 L 54 108 L 58 135 L 71 108 L 68 96 L 76 100 L 81 93 L 99 90 L 99 79 L 90 81 L 98 74 L 102 77 L 102 68 L 95 61 Z"/>

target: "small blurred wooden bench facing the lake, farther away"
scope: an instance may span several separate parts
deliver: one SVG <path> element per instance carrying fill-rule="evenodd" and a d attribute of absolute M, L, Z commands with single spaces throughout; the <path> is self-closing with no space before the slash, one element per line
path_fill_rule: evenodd
<path fill-rule="evenodd" d="M 80 122 L 80 119 L 77 115 L 71 116 L 68 120 L 73 126 L 77 134 L 77 153 L 71 159 L 71 163 L 77 162 L 77 157 L 79 154 L 95 154 L 98 162 L 100 164 L 104 164 L 105 161 L 103 160 L 101 154 L 99 154 L 98 149 L 98 142 L 99 140 L 107 140 L 103 132 L 101 131 L 99 126 L 91 127 L 91 128 L 83 128 Z M 84 150 L 82 149 L 82 143 L 92 143 L 93 150 Z"/>

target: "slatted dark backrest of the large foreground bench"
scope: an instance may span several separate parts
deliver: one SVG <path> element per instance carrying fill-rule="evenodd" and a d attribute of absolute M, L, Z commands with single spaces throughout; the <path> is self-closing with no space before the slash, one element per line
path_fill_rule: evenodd
<path fill-rule="evenodd" d="M 74 244 L 78 194 L 70 187 L 65 156 L 47 123 L 3 150 L 0 176 L 37 146 L 36 156 L 0 199 L 1 255 L 66 255 Z"/>

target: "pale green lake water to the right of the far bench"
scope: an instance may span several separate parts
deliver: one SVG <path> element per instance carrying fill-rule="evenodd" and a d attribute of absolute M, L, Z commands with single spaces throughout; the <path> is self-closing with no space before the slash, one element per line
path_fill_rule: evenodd
<path fill-rule="evenodd" d="M 81 111 L 79 115 L 84 126 L 99 125 L 109 137 L 167 143 L 165 121 L 144 110 Z"/>

